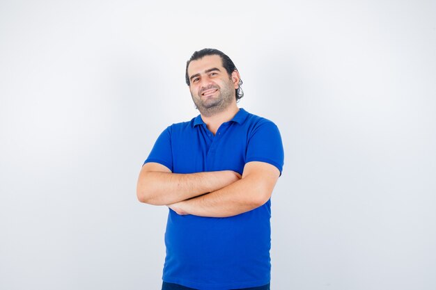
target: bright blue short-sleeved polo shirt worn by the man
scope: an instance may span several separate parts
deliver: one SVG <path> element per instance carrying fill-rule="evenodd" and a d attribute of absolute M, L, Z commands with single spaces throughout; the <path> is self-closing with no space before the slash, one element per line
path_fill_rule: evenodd
<path fill-rule="evenodd" d="M 214 136 L 201 119 L 167 127 L 144 163 L 174 173 L 233 170 L 250 161 L 283 167 L 277 126 L 243 108 Z M 202 290 L 258 287 L 270 282 L 271 202 L 228 218 L 179 216 L 169 209 L 163 280 Z"/>

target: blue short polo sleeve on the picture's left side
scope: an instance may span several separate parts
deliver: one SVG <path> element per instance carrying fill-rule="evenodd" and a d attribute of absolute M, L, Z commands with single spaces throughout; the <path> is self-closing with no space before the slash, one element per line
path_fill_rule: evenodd
<path fill-rule="evenodd" d="M 171 150 L 171 126 L 167 127 L 157 138 L 145 163 L 156 162 L 173 171 L 173 153 Z"/>

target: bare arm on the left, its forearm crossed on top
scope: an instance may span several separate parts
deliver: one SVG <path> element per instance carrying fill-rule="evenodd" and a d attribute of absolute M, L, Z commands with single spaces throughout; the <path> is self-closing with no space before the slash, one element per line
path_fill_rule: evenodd
<path fill-rule="evenodd" d="M 148 204 L 166 205 L 217 191 L 240 179 L 231 170 L 178 174 L 143 171 L 139 175 L 137 196 Z"/>

